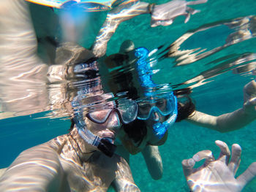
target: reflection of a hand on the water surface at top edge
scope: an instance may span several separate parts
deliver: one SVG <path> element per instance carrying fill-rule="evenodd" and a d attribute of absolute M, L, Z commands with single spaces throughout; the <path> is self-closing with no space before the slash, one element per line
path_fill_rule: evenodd
<path fill-rule="evenodd" d="M 192 9 L 187 5 L 192 4 L 203 4 L 207 0 L 197 1 L 184 1 L 184 0 L 173 0 L 166 4 L 155 5 L 151 15 L 151 27 L 155 26 L 169 26 L 173 23 L 173 20 L 180 15 L 185 15 L 185 23 L 189 21 L 190 14 L 194 15 L 200 10 Z"/>

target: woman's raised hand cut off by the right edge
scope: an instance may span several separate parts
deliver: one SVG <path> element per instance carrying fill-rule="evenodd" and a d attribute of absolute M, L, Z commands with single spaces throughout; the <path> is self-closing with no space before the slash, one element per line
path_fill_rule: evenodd
<path fill-rule="evenodd" d="M 256 115 L 256 82 L 244 85 L 244 112 L 249 115 Z"/>

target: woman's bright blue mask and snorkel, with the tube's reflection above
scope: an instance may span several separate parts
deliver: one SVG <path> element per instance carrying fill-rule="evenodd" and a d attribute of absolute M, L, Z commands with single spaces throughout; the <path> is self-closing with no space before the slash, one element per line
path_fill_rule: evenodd
<path fill-rule="evenodd" d="M 155 84 L 151 78 L 151 74 L 153 73 L 149 62 L 147 61 L 148 54 L 149 51 L 145 47 L 139 47 L 135 50 L 135 56 L 138 58 L 137 69 L 140 77 L 140 85 L 144 88 L 154 88 L 157 84 Z M 154 135 L 157 136 L 158 139 L 162 139 L 167 129 L 173 125 L 177 118 L 177 98 L 173 95 L 173 91 L 161 95 L 156 95 L 151 91 L 146 92 L 145 94 L 147 96 L 146 99 L 138 101 L 138 119 L 148 120 L 154 115 L 154 112 L 157 112 L 157 114 L 162 116 L 169 115 L 167 120 L 163 123 L 160 123 L 157 120 L 157 123 L 154 123 L 153 126 Z M 165 105 L 158 106 L 157 99 L 165 102 Z"/>

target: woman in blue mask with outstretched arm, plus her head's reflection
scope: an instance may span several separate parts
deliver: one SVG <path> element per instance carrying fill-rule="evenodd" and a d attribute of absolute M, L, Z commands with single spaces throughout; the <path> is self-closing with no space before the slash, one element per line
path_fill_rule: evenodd
<path fill-rule="evenodd" d="M 134 43 L 130 40 L 124 41 L 118 54 L 110 55 L 106 58 L 107 65 L 111 69 L 115 69 L 116 66 L 121 66 L 122 64 L 124 64 L 124 66 L 129 65 L 134 62 L 135 53 L 136 49 Z M 112 81 L 116 83 L 116 86 L 111 86 L 113 92 L 129 92 L 132 90 L 133 94 L 130 96 L 137 99 L 138 96 L 136 96 L 136 94 L 138 91 L 136 90 L 141 90 L 143 87 L 147 86 L 148 88 L 156 86 L 151 80 L 149 64 L 143 63 L 141 67 L 142 68 L 138 70 L 138 73 L 140 73 L 140 77 L 138 78 L 140 82 L 139 88 L 135 88 L 135 80 L 129 77 L 129 73 L 120 74 L 120 77 L 115 74 L 113 77 L 116 77 L 116 80 L 113 79 Z M 141 74 L 143 70 L 144 73 Z M 110 83 L 113 84 L 113 82 Z M 126 83 L 127 89 L 122 90 L 120 88 L 125 88 L 124 83 Z M 187 96 L 187 93 L 184 94 L 183 92 L 184 91 L 174 91 L 174 94 L 178 95 L 178 97 Z M 255 93 L 256 82 L 252 80 L 244 86 L 244 106 L 234 112 L 218 117 L 198 112 L 195 110 L 195 105 L 192 103 L 191 99 L 186 103 L 178 101 L 178 109 L 176 109 L 178 110 L 177 114 L 176 110 L 174 110 L 176 108 L 176 101 L 173 93 L 165 93 L 162 95 L 151 94 L 138 101 L 138 119 L 122 126 L 118 138 L 121 140 L 124 149 L 118 146 L 118 154 L 121 154 L 129 162 L 129 154 L 127 154 L 127 151 L 130 154 L 142 152 L 151 177 L 156 180 L 160 179 L 162 177 L 162 159 L 156 145 L 163 145 L 165 143 L 167 139 L 167 129 L 172 125 L 173 118 L 176 115 L 176 122 L 188 120 L 190 123 L 212 128 L 220 132 L 233 131 L 255 120 Z"/>

